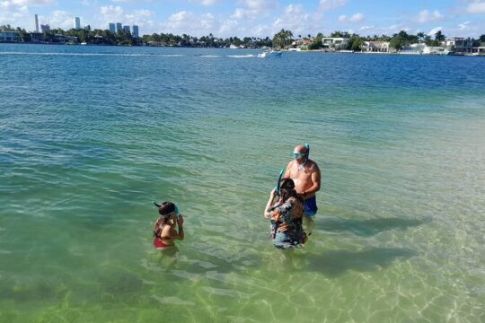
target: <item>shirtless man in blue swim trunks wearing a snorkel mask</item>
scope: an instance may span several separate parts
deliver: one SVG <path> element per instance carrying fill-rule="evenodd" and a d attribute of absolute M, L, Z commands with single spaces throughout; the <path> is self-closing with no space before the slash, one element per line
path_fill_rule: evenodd
<path fill-rule="evenodd" d="M 310 146 L 298 144 L 291 154 L 293 161 L 288 162 L 285 178 L 293 179 L 295 190 L 304 199 L 304 212 L 313 216 L 317 212 L 315 193 L 320 190 L 320 169 L 316 162 L 308 158 Z"/>

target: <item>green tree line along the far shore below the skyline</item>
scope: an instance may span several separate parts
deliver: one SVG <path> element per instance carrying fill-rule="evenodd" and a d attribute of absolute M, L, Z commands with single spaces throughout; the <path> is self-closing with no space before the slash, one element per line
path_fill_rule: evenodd
<path fill-rule="evenodd" d="M 18 31 L 19 39 L 22 42 L 31 42 L 33 33 L 27 32 L 20 27 L 13 28 L 10 25 L 1 25 L 0 31 Z M 61 36 L 61 37 L 59 37 Z M 437 31 L 434 37 L 418 32 L 416 35 L 409 34 L 407 31 L 399 31 L 392 36 L 387 35 L 374 35 L 374 36 L 360 36 L 356 33 L 348 33 L 348 31 L 333 31 L 329 35 L 332 38 L 346 38 L 348 44 L 346 48 L 358 51 L 362 48 L 365 41 L 380 40 L 389 41 L 390 47 L 399 49 L 409 46 L 412 43 L 424 43 L 428 46 L 439 46 L 441 41 L 445 40 L 445 34 L 442 31 Z M 64 37 L 65 39 L 63 39 Z M 308 45 L 308 49 L 322 48 L 322 39 L 325 36 L 322 33 L 318 33 L 315 37 L 308 34 L 304 39 L 310 39 L 311 43 Z M 68 40 L 66 40 L 66 38 Z M 73 40 L 76 39 L 76 40 Z M 301 35 L 298 35 L 297 39 L 302 39 Z M 37 40 L 39 40 L 37 38 Z M 127 31 L 118 31 L 116 33 L 108 30 L 94 29 L 90 26 L 84 29 L 71 29 L 64 31 L 62 29 L 53 29 L 48 32 L 44 32 L 41 35 L 41 41 L 56 43 L 60 41 L 64 42 L 85 42 L 87 44 L 98 45 L 150 45 L 150 46 L 179 46 L 179 47 L 196 47 L 196 48 L 227 48 L 231 45 L 244 48 L 289 48 L 292 42 L 295 40 L 292 31 L 286 31 L 282 29 L 278 31 L 272 39 L 266 37 L 228 37 L 217 38 L 212 33 L 207 36 L 193 37 L 187 34 L 174 35 L 172 33 L 154 33 L 152 35 L 143 35 L 141 38 L 134 38 Z M 481 46 L 481 43 L 485 43 L 485 34 L 481 35 L 479 39 L 472 40 L 473 46 Z"/>

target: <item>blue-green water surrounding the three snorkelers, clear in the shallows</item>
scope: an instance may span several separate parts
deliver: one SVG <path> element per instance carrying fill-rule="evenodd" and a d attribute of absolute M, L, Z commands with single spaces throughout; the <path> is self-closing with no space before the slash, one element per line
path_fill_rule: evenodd
<path fill-rule="evenodd" d="M 485 320 L 485 60 L 256 55 L 0 45 L 0 321 Z M 285 253 L 262 208 L 304 142 Z"/>

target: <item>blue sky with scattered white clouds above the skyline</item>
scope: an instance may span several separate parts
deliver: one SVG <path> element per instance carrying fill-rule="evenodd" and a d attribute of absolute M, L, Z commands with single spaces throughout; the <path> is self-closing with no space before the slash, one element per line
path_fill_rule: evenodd
<path fill-rule="evenodd" d="M 331 31 L 485 34 L 485 0 L 0 0 L 0 25 L 33 31 L 35 13 L 51 28 L 71 29 L 80 17 L 82 26 L 93 29 L 137 24 L 140 35 L 272 38 L 281 29 L 294 37 Z"/>

